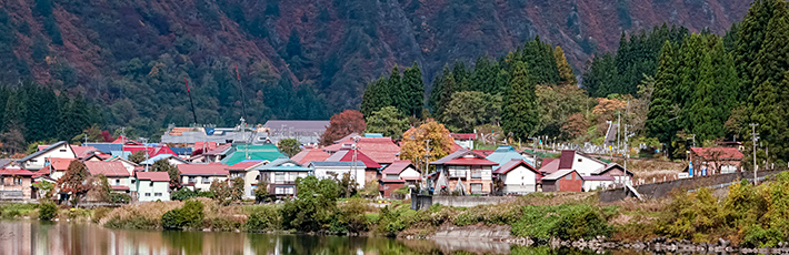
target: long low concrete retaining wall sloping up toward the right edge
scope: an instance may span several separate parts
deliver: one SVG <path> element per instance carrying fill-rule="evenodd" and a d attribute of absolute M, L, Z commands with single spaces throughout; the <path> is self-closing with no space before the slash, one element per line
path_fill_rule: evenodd
<path fill-rule="evenodd" d="M 758 172 L 758 176 L 765 177 L 768 175 L 778 174 L 782 171 L 770 171 L 770 172 Z M 732 183 L 741 178 L 753 178 L 753 172 L 738 172 L 730 174 L 718 174 L 708 175 L 703 177 L 692 177 L 692 178 L 680 178 L 661 183 L 650 183 L 635 186 L 636 191 L 641 194 L 643 198 L 660 198 L 666 197 L 671 194 L 675 190 L 695 190 L 706 186 L 715 186 L 727 183 Z M 623 200 L 628 196 L 628 191 L 625 188 L 615 188 L 600 192 L 600 202 L 615 202 Z"/>

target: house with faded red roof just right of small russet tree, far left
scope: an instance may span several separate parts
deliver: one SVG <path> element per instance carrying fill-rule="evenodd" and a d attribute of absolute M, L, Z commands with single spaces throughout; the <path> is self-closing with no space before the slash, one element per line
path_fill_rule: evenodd
<path fill-rule="evenodd" d="M 113 192 L 132 193 L 132 196 L 133 192 L 137 192 L 137 185 L 134 185 L 137 180 L 131 177 L 132 175 L 122 163 L 117 161 L 86 161 L 83 163 L 90 175 L 104 175 Z"/>

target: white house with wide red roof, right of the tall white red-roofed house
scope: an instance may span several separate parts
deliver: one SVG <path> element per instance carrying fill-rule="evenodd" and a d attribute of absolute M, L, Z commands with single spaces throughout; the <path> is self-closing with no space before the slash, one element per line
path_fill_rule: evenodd
<path fill-rule="evenodd" d="M 208 191 L 211 182 L 228 180 L 228 166 L 224 164 L 180 164 L 176 167 L 181 172 L 181 185 L 193 191 Z"/>

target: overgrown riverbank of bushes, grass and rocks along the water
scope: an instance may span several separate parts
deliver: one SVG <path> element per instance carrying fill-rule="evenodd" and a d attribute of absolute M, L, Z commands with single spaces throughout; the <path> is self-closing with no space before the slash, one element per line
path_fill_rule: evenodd
<path fill-rule="evenodd" d="M 670 252 L 763 252 L 751 248 L 772 247 L 782 252 L 789 233 L 787 194 L 789 173 L 782 173 L 758 186 L 737 183 L 719 192 L 701 188 L 647 202 L 628 200 L 602 204 L 593 193 L 535 193 L 497 205 L 433 205 L 412 211 L 409 201 L 394 201 L 382 208 L 370 206 L 370 201 L 363 198 L 222 206 L 201 197 L 190 200 L 191 208 L 184 202 L 151 202 L 114 210 L 61 210 L 58 218 L 129 230 L 369 235 L 402 239 L 479 238 L 496 232 L 487 237 L 527 245 Z M 168 212 L 172 213 L 166 220 Z M 21 205 L 0 206 L 3 217 L 34 218 L 34 214 L 36 208 Z M 199 216 L 191 217 L 193 215 Z M 448 234 L 447 230 L 462 230 L 461 235 L 466 236 Z M 501 233 L 508 236 L 501 237 Z"/>

